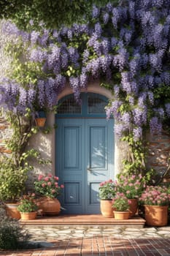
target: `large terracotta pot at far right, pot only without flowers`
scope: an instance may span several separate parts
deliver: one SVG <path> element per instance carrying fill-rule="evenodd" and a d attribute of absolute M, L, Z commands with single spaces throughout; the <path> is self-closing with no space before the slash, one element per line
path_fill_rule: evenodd
<path fill-rule="evenodd" d="M 144 218 L 146 224 L 151 226 L 166 226 L 168 224 L 169 206 L 144 205 Z"/>

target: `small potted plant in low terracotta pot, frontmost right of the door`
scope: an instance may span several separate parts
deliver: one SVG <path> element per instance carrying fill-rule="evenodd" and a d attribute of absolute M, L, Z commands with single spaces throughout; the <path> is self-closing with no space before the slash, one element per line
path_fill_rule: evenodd
<path fill-rule="evenodd" d="M 115 219 L 128 219 L 130 216 L 129 205 L 131 201 L 120 192 L 115 194 L 112 199 L 112 208 L 114 209 Z"/>

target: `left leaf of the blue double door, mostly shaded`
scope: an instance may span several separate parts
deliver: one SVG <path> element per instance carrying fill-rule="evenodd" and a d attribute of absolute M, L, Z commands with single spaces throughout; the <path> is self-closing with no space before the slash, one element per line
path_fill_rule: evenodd
<path fill-rule="evenodd" d="M 84 127 L 81 119 L 58 118 L 56 131 L 56 173 L 64 184 L 64 192 L 59 197 L 63 214 L 82 214 L 85 211 L 84 159 L 82 157 L 82 135 Z"/>

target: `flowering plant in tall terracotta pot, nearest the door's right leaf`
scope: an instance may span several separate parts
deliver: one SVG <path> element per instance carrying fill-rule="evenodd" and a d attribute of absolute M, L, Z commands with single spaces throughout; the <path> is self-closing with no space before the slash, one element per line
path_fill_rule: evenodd
<path fill-rule="evenodd" d="M 99 197 L 101 199 L 100 208 L 101 214 L 104 217 L 112 218 L 112 197 L 115 196 L 115 184 L 112 179 L 109 181 L 101 182 L 99 187 Z"/>

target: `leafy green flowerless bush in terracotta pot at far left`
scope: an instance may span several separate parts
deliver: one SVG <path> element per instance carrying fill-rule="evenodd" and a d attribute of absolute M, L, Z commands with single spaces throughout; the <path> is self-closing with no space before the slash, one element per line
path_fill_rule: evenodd
<path fill-rule="evenodd" d="M 0 164 L 0 200 L 4 203 L 7 216 L 20 219 L 17 207 L 20 195 L 26 188 L 28 170 L 17 167 L 12 159 L 7 157 L 1 159 Z"/>

